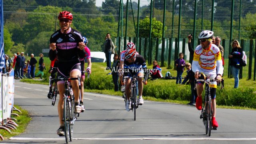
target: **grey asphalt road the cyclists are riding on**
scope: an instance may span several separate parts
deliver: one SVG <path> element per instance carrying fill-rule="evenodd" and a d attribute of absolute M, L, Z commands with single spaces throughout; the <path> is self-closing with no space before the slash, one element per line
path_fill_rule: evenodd
<path fill-rule="evenodd" d="M 59 137 L 57 102 L 47 98 L 48 86 L 15 80 L 14 104 L 29 111 L 32 120 L 23 134 L 1 143 L 64 144 Z M 208 137 L 193 106 L 145 101 L 126 112 L 120 96 L 85 93 L 86 111 L 73 126 L 72 144 L 255 144 L 256 111 L 217 109 L 219 128 Z M 218 96 L 217 96 L 218 100 Z"/>

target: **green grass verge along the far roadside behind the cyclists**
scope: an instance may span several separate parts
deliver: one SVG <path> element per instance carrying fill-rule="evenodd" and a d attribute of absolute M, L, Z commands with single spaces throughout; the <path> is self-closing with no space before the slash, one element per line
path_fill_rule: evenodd
<path fill-rule="evenodd" d="M 47 63 L 47 58 L 44 58 L 46 68 L 50 65 L 50 60 Z M 227 63 L 226 63 L 227 64 Z M 109 95 L 122 96 L 121 92 L 114 92 L 114 84 L 112 82 L 112 75 L 107 75 L 108 72 L 104 72 L 106 63 L 93 63 L 92 74 L 90 80 L 85 80 L 84 88 L 85 92 L 96 92 Z M 248 66 L 244 67 L 244 74 L 248 74 Z M 148 66 L 148 68 L 152 68 Z M 176 70 L 162 67 L 162 74 L 165 75 L 167 71 L 170 71 L 172 76 L 176 76 Z M 45 75 L 48 72 L 45 73 Z M 186 75 L 184 71 L 182 77 Z M 253 109 L 256 108 L 254 104 L 256 99 L 256 82 L 253 80 L 247 80 L 244 78 L 239 81 L 239 88 L 234 89 L 234 78 L 227 78 L 224 75 L 224 90 L 217 88 L 217 104 L 219 108 L 237 108 L 237 109 Z M 38 80 L 21 80 L 23 82 L 48 84 L 48 77 L 45 77 L 42 81 Z M 148 85 L 144 86 L 143 96 L 146 100 L 153 100 L 159 102 L 173 102 L 178 104 L 187 104 L 190 100 L 190 86 L 189 85 L 176 85 L 176 80 L 148 80 Z M 222 105 L 222 106 L 221 106 Z"/>

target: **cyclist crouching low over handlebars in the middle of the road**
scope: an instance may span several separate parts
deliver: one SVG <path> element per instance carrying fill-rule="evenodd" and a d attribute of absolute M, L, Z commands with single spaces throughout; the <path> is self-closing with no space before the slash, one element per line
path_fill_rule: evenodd
<path fill-rule="evenodd" d="M 138 92 L 139 92 L 139 104 L 144 104 L 142 98 L 142 90 L 143 90 L 143 83 L 147 84 L 148 80 L 148 71 L 146 66 L 146 60 L 139 54 L 137 54 L 136 49 L 129 49 L 125 52 L 125 59 L 124 59 L 124 76 L 144 76 L 144 82 L 142 82 L 142 78 L 137 78 L 138 80 Z M 126 110 L 129 112 L 131 109 L 131 87 L 132 81 L 131 78 L 128 78 L 125 82 L 125 93 L 127 96 L 126 101 Z"/>

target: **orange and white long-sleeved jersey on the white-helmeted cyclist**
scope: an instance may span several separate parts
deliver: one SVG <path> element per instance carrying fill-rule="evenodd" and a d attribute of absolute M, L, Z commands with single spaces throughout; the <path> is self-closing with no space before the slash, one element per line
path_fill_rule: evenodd
<path fill-rule="evenodd" d="M 223 74 L 223 66 L 221 53 L 218 46 L 215 44 L 210 44 L 208 49 L 202 48 L 201 45 L 197 46 L 194 51 L 194 58 L 192 62 L 192 71 L 201 72 L 201 70 L 207 70 L 209 72 L 216 72 L 216 67 L 218 67 L 218 72 L 216 74 Z"/>

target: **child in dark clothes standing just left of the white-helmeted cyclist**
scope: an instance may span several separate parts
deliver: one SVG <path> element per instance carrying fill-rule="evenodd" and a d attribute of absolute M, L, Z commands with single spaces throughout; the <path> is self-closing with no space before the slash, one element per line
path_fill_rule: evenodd
<path fill-rule="evenodd" d="M 185 76 L 185 79 L 183 80 L 182 84 L 190 84 L 190 88 L 191 88 L 191 100 L 190 103 L 188 103 L 191 106 L 196 106 L 195 104 L 195 100 L 197 98 L 197 93 L 196 90 L 194 90 L 195 84 L 194 84 L 194 80 L 195 80 L 195 73 L 192 71 L 191 69 L 191 64 L 189 62 L 187 62 L 185 64 L 185 67 L 187 69 L 187 75 Z"/>

